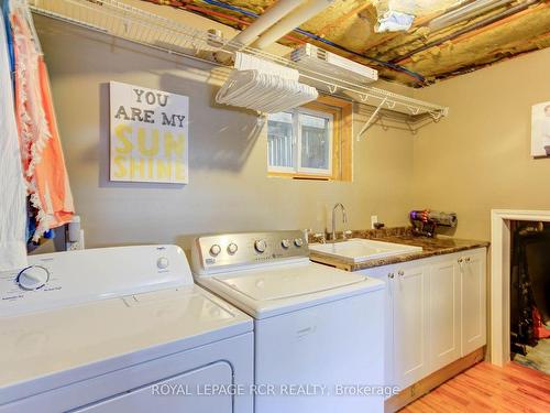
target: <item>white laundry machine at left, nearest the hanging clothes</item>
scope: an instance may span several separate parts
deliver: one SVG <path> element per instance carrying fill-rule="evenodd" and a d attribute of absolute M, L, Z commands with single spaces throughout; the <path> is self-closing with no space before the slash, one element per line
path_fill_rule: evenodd
<path fill-rule="evenodd" d="M 0 273 L 0 412 L 253 411 L 252 319 L 195 285 L 182 249 L 29 261 Z"/>

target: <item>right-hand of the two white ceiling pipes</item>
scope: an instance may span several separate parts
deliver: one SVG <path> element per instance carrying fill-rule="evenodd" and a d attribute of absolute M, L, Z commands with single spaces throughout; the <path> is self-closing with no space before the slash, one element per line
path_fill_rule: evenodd
<path fill-rule="evenodd" d="M 301 23 L 319 14 L 333 2 L 334 0 L 308 0 L 280 19 L 278 23 L 267 29 L 253 45 L 257 48 L 270 46 Z"/>

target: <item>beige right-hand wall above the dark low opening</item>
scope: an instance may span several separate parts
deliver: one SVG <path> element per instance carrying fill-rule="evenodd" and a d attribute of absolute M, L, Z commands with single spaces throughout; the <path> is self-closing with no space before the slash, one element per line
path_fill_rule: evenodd
<path fill-rule="evenodd" d="M 455 210 L 461 238 L 490 239 L 492 208 L 550 209 L 550 159 L 530 156 L 531 105 L 550 100 L 550 48 L 441 81 L 421 99 L 450 116 L 414 145 L 414 207 Z"/>

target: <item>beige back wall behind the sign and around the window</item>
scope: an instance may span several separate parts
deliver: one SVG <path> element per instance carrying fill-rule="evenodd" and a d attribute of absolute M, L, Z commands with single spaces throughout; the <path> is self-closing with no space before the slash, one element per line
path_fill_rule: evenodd
<path fill-rule="evenodd" d="M 88 247 L 188 247 L 190 236 L 209 231 L 323 230 L 337 202 L 348 208 L 349 228 L 367 228 L 372 214 L 406 224 L 414 143 L 407 132 L 372 129 L 355 142 L 353 183 L 268 178 L 265 131 L 255 130 L 252 113 L 212 107 L 210 66 L 45 18 L 36 25 Z M 190 97 L 189 185 L 108 181 L 110 80 Z M 364 120 L 356 118 L 355 130 Z"/>

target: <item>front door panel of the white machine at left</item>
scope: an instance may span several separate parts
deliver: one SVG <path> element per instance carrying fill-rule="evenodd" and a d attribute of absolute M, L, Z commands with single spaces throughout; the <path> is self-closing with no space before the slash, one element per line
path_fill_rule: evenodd
<path fill-rule="evenodd" d="M 78 413 L 230 413 L 233 372 L 226 361 L 157 381 L 77 409 Z M 204 383 L 208 383 L 205 387 Z"/>

